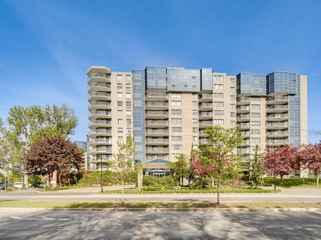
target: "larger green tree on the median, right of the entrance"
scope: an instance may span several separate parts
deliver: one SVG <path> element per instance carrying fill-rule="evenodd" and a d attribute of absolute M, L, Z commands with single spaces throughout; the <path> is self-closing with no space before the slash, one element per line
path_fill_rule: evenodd
<path fill-rule="evenodd" d="M 214 166 L 213 171 L 217 174 L 217 203 L 220 204 L 222 170 L 238 162 L 240 157 L 235 154 L 235 148 L 242 143 L 242 137 L 238 126 L 214 126 L 205 129 L 204 132 L 209 135 L 208 143 L 199 145 L 199 157 L 201 161 Z"/>

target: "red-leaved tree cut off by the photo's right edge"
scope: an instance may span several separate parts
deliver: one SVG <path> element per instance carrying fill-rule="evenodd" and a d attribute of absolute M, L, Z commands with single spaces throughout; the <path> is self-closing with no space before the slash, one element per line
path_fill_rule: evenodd
<path fill-rule="evenodd" d="M 303 169 L 313 171 L 315 184 L 319 184 L 321 176 L 321 142 L 316 144 L 303 144 L 300 146 L 300 159 Z"/>

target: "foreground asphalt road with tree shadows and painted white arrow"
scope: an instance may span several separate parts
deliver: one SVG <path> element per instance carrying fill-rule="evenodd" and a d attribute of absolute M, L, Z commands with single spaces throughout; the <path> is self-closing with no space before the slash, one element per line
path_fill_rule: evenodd
<path fill-rule="evenodd" d="M 0 208 L 0 239 L 321 239 L 319 212 L 99 212 Z"/>

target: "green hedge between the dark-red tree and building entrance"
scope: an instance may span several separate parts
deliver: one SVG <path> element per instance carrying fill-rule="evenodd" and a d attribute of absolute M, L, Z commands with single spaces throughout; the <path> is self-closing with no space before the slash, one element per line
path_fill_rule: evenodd
<path fill-rule="evenodd" d="M 94 185 L 97 184 L 97 177 L 98 184 L 100 184 L 101 181 L 101 175 L 100 171 L 92 171 L 92 172 L 84 172 L 82 174 L 82 177 L 78 180 L 78 184 L 83 185 Z M 113 185 L 113 184 L 121 184 L 121 175 L 120 172 L 116 171 L 103 171 L 102 172 L 103 177 L 103 185 Z M 125 176 L 125 184 L 129 184 L 129 178 L 130 178 L 130 184 L 136 184 L 137 183 L 137 171 L 132 170 Z"/>

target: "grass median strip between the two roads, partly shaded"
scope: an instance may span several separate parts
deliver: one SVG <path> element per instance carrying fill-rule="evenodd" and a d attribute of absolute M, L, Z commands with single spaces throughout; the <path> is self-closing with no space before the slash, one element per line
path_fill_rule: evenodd
<path fill-rule="evenodd" d="M 174 207 L 174 208 L 215 208 L 215 207 L 321 207 L 321 202 L 77 202 L 77 201 L 0 201 L 0 207 L 51 207 L 51 208 L 147 208 L 147 207 Z"/>

